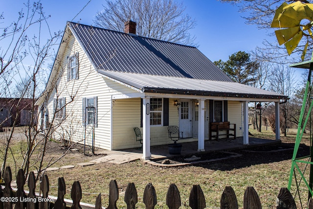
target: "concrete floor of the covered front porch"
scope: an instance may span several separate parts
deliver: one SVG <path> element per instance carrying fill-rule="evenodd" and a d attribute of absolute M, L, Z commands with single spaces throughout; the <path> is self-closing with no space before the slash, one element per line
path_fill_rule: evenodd
<path fill-rule="evenodd" d="M 180 155 L 184 156 L 184 155 L 192 155 L 192 154 L 199 153 L 198 141 L 183 142 L 183 139 L 181 139 L 178 142 L 182 144 Z M 243 145 L 243 138 L 238 137 L 237 139 L 219 139 L 218 141 L 217 140 L 205 140 L 204 149 L 205 149 L 205 152 L 212 152 L 212 151 L 242 149 L 246 147 L 255 147 L 255 146 L 263 146 L 263 145 L 278 144 L 278 143 L 280 143 L 280 141 L 276 141 L 273 139 L 259 139 L 259 138 L 250 137 L 249 144 Z M 132 153 L 132 155 L 142 158 L 142 150 L 138 150 L 135 148 L 118 150 L 118 152 L 128 153 L 128 154 Z M 151 154 L 152 154 L 151 160 L 178 156 L 178 155 L 169 154 L 168 145 L 151 146 Z"/>

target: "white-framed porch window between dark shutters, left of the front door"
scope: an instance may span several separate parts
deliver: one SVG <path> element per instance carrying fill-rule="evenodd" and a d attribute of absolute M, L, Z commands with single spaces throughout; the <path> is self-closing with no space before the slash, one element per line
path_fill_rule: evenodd
<path fill-rule="evenodd" d="M 150 125 L 162 125 L 162 98 L 150 99 Z"/>

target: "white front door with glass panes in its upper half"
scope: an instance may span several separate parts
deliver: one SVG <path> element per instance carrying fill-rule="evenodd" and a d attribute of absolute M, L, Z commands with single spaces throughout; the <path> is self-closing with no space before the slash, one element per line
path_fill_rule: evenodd
<path fill-rule="evenodd" d="M 192 101 L 180 99 L 179 131 L 183 132 L 183 138 L 192 138 Z"/>

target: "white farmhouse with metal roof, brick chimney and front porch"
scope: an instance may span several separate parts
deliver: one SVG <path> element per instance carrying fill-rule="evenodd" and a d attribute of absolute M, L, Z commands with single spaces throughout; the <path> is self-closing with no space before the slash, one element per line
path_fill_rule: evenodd
<path fill-rule="evenodd" d="M 248 143 L 248 102 L 288 97 L 233 82 L 196 47 L 140 37 L 135 23 L 125 33 L 67 23 L 46 86 L 39 98 L 41 128 L 52 121 L 55 138 L 70 137 L 108 149 L 139 147 L 134 127 L 143 134 L 143 159 L 150 146 L 169 144 L 167 127 L 178 126 L 184 139 L 205 150 L 209 122 L 236 124 Z M 212 49 L 217 50 L 217 49 Z M 276 139 L 279 139 L 276 119 Z M 92 140 L 91 140 L 92 139 Z"/>

